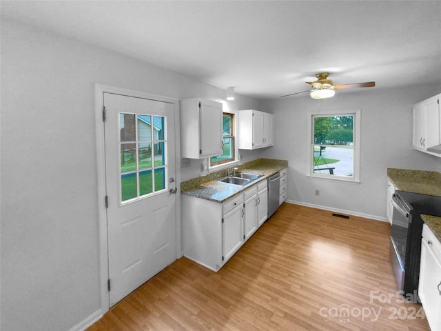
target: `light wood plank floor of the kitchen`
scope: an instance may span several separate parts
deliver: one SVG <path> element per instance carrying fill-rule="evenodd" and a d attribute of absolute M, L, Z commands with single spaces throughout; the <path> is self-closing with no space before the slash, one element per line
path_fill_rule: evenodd
<path fill-rule="evenodd" d="M 218 272 L 179 259 L 88 330 L 429 330 L 396 296 L 389 223 L 331 214 L 284 203 Z"/>

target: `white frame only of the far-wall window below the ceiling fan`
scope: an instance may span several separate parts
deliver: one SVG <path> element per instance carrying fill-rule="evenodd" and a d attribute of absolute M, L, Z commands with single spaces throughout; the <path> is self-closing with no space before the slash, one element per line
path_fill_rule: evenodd
<path fill-rule="evenodd" d="M 315 117 L 338 117 L 353 116 L 353 162 L 352 177 L 341 176 L 338 174 L 322 174 L 314 172 L 314 118 Z M 336 181 L 348 181 L 360 183 L 360 142 L 361 142 L 361 110 L 321 110 L 311 111 L 308 114 L 308 157 L 307 157 L 307 177 L 316 179 L 330 179 Z"/>

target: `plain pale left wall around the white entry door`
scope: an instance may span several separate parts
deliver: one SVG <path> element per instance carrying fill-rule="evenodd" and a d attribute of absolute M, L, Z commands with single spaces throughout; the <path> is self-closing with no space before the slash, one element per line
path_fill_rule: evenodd
<path fill-rule="evenodd" d="M 1 20 L 1 330 L 70 330 L 101 308 L 94 83 L 225 98 L 170 70 Z M 229 108 L 258 106 L 237 97 Z M 194 161 L 182 177 L 199 172 Z"/>

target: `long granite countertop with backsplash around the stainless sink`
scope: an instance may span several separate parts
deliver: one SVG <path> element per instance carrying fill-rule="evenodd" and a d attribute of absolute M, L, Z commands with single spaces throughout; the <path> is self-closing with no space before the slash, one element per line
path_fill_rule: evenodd
<path fill-rule="evenodd" d="M 260 174 L 262 177 L 244 186 L 216 181 L 216 179 L 225 177 L 226 170 L 224 169 L 182 182 L 181 194 L 223 203 L 225 200 L 247 190 L 247 188 L 260 183 L 260 181 L 266 180 L 276 172 L 287 168 L 287 166 L 288 161 L 274 159 L 258 159 L 240 165 L 234 165 L 234 168 L 238 168 L 238 172 L 251 172 L 253 174 Z"/>

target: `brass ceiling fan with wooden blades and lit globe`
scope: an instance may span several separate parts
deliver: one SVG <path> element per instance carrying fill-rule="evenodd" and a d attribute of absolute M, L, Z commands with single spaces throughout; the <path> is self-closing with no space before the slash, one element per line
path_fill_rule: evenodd
<path fill-rule="evenodd" d="M 320 74 L 316 74 L 316 81 L 306 81 L 305 83 L 312 86 L 312 90 L 302 91 L 291 93 L 287 95 L 283 95 L 283 97 L 289 97 L 294 94 L 300 94 L 305 92 L 310 92 L 310 96 L 312 99 L 327 99 L 334 97 L 336 90 L 340 90 L 343 88 L 372 88 L 375 86 L 375 81 L 368 81 L 365 83 L 352 83 L 352 84 L 344 84 L 344 85 L 334 85 L 330 79 L 328 79 L 328 72 L 321 72 Z"/>

